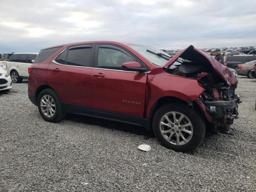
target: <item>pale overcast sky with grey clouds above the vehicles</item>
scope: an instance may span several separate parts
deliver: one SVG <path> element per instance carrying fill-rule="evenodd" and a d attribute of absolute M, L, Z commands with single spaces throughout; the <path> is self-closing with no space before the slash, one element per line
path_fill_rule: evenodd
<path fill-rule="evenodd" d="M 256 46 L 256 0 L 0 0 L 0 53 L 88 40 Z"/>

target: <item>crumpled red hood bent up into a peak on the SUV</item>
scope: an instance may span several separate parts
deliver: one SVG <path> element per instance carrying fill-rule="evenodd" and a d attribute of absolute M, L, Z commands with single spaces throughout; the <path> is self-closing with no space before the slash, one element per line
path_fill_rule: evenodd
<path fill-rule="evenodd" d="M 220 62 L 212 58 L 210 55 L 194 48 L 194 46 L 190 45 L 185 48 L 175 56 L 173 56 L 164 66 L 166 70 L 170 68 L 170 66 L 178 59 L 183 58 L 190 61 L 195 61 L 206 65 L 208 68 L 213 68 L 211 70 L 214 76 L 218 75 L 222 80 L 224 80 L 229 86 L 236 84 L 237 80 L 234 76 L 233 72 L 227 67 L 222 65 Z"/>

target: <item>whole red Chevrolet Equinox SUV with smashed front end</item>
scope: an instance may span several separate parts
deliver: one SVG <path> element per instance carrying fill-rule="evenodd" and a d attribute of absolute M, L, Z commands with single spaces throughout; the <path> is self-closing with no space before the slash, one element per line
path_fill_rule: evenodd
<path fill-rule="evenodd" d="M 238 115 L 233 72 L 193 46 L 172 57 L 138 44 L 64 44 L 41 50 L 28 72 L 44 120 L 74 113 L 126 122 L 176 151 L 194 150 L 206 125 L 227 130 Z"/>

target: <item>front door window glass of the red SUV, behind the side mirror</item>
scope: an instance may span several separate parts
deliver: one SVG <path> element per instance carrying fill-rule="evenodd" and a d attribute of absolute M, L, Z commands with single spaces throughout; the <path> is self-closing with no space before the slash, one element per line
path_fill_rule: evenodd
<path fill-rule="evenodd" d="M 122 70 L 122 64 L 133 62 L 133 58 L 113 48 L 99 48 L 98 51 L 98 68 Z"/>

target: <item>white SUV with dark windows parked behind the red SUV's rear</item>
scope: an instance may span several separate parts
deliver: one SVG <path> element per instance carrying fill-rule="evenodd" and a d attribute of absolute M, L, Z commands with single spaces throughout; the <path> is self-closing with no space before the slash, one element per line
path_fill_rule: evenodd
<path fill-rule="evenodd" d="M 12 82 L 21 83 L 28 78 L 28 67 L 33 63 L 38 53 L 14 53 L 6 64 Z"/>

